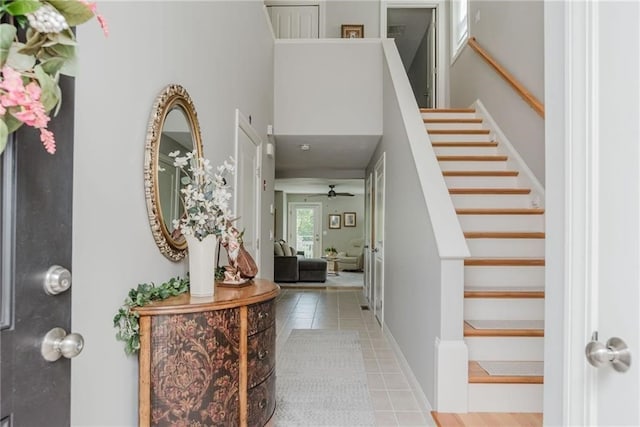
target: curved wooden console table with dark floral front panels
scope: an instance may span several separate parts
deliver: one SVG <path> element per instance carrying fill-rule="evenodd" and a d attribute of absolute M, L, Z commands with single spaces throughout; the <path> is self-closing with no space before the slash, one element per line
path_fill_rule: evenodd
<path fill-rule="evenodd" d="M 254 279 L 137 309 L 141 426 L 263 426 L 275 411 L 275 297 Z"/>

